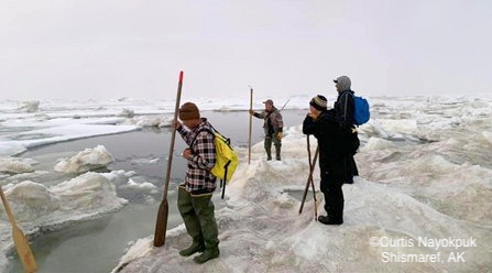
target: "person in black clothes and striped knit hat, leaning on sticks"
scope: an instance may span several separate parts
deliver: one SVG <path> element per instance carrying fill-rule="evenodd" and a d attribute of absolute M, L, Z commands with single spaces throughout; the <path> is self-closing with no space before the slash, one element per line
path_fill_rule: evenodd
<path fill-rule="evenodd" d="M 347 139 L 340 134 L 340 127 L 334 110 L 327 110 L 327 99 L 318 95 L 310 102 L 310 111 L 303 122 L 303 133 L 314 134 L 318 140 L 320 189 L 325 196 L 328 216 L 319 216 L 325 225 L 343 223 L 345 177 L 343 159 L 347 156 Z"/>

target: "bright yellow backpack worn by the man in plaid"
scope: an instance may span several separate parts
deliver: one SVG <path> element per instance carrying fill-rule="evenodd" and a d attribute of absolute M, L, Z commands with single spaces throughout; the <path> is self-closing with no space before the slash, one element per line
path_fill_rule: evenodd
<path fill-rule="evenodd" d="M 216 165 L 214 165 L 210 172 L 212 175 L 220 179 L 220 187 L 222 187 L 223 199 L 223 195 L 226 193 L 226 183 L 232 178 L 232 175 L 238 167 L 239 159 L 238 154 L 231 148 L 231 140 L 223 136 L 223 134 L 219 133 L 214 127 L 211 127 L 211 129 L 214 130 L 214 132 L 208 129 L 204 129 L 201 131 L 207 131 L 214 134 L 214 145 L 216 148 Z"/>

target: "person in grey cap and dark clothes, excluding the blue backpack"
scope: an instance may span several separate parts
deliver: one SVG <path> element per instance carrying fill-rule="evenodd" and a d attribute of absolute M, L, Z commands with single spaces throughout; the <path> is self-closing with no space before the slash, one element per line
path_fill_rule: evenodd
<path fill-rule="evenodd" d="M 353 155 L 360 144 L 353 119 L 354 92 L 350 89 L 351 81 L 347 76 L 338 77 L 334 79 L 334 83 L 338 91 L 337 101 L 334 103 L 335 118 L 339 123 L 340 133 L 347 138 L 347 149 L 350 150 L 350 153 L 342 160 L 345 170 L 343 183 L 352 184 L 353 176 L 359 175 Z"/>

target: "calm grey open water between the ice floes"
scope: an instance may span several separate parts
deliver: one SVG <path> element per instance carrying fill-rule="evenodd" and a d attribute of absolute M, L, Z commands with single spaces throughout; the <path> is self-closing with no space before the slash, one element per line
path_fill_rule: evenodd
<path fill-rule="evenodd" d="M 302 123 L 306 110 L 284 110 L 285 127 Z M 249 114 L 245 111 L 201 113 L 222 134 L 231 138 L 236 146 L 248 146 Z M 263 140 L 263 121 L 253 118 L 252 142 Z M 77 223 L 61 231 L 41 234 L 32 242 L 32 249 L 40 266 L 39 272 L 110 272 L 116 266 L 121 255 L 124 254 L 129 242 L 135 241 L 154 233 L 155 217 L 158 204 L 162 199 L 163 181 L 167 165 L 168 149 L 171 142 L 170 129 L 143 129 L 141 131 L 95 136 L 89 139 L 62 142 L 37 148 L 22 154 L 22 157 L 34 159 L 40 162 L 36 170 L 53 171 L 56 160 L 67 157 L 83 151 L 86 148 L 105 145 L 113 155 L 114 162 L 108 168 L 110 171 L 135 171 L 138 179 L 142 177 L 157 186 L 158 194 L 153 195 L 154 203 L 145 201 L 145 195 L 135 190 L 118 189 L 118 196 L 130 203 L 120 211 L 103 216 L 101 219 Z M 175 187 L 182 182 L 185 173 L 185 160 L 179 155 L 185 149 L 181 136 L 176 135 L 175 152 L 173 157 L 173 171 L 171 175 L 168 204 L 170 216 L 167 228 L 172 229 L 182 223 L 177 212 Z M 139 159 L 160 159 L 157 164 L 135 163 Z M 51 183 L 58 183 L 72 178 L 59 174 L 50 174 Z M 34 179 L 46 183 L 48 176 Z M 216 194 L 214 197 L 216 207 L 223 206 L 223 200 Z M 14 259 L 12 272 L 22 272 L 20 262 Z"/>

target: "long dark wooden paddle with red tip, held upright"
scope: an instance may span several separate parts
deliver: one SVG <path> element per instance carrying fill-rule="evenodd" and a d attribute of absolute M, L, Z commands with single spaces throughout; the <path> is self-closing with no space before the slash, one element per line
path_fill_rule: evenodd
<path fill-rule="evenodd" d="M 167 157 L 167 173 L 164 182 L 164 194 L 158 206 L 157 220 L 155 221 L 154 247 L 162 247 L 166 240 L 167 215 L 170 206 L 167 204 L 167 190 L 170 188 L 171 166 L 173 164 L 174 141 L 176 139 L 177 112 L 179 111 L 179 100 L 182 97 L 183 72 L 179 73 L 179 83 L 177 85 L 176 107 L 174 108 L 173 133 L 171 134 L 170 155 Z"/>

